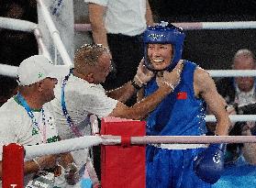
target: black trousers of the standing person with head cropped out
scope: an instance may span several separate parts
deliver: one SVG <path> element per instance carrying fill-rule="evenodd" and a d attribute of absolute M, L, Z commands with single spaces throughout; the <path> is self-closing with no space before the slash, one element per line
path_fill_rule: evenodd
<path fill-rule="evenodd" d="M 139 61 L 143 58 L 143 40 L 142 35 L 129 37 L 121 34 L 107 34 L 107 42 L 116 65 L 116 72 L 111 72 L 106 77 L 106 83 L 103 84 L 106 90 L 109 90 L 133 79 Z M 135 101 L 133 96 L 127 105 L 132 105 Z"/>

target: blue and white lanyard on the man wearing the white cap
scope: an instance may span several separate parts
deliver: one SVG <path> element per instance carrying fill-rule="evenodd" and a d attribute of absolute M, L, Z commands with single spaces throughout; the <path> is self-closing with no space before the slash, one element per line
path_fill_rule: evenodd
<path fill-rule="evenodd" d="M 28 116 L 31 118 L 32 120 L 32 126 L 39 131 L 39 133 L 42 135 L 42 141 L 43 143 L 46 143 L 46 119 L 45 119 L 45 113 L 44 113 L 44 109 L 41 109 L 42 112 L 42 122 L 43 122 L 43 128 L 42 131 L 40 131 L 39 128 L 39 122 L 37 122 L 36 117 L 34 116 L 32 110 L 30 109 L 28 103 L 26 102 L 25 98 L 21 95 L 21 94 L 17 94 L 17 100 L 19 101 L 19 103 L 26 109 Z"/>

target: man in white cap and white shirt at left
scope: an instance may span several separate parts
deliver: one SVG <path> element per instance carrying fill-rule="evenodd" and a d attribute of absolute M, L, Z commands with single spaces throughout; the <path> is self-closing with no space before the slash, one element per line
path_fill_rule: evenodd
<path fill-rule="evenodd" d="M 59 140 L 48 102 L 54 98 L 53 89 L 58 83 L 57 78 L 66 73 L 62 72 L 60 67 L 54 67 L 42 55 L 31 56 L 20 63 L 17 71 L 18 94 L 0 107 L 0 141 L 2 144 L 38 145 Z M 24 165 L 25 184 L 35 186 L 35 183 L 39 182 L 47 185 L 48 183 L 50 185 L 65 183 L 62 182 L 64 171 L 61 173 L 62 176 L 55 178 L 54 182 L 53 170 L 62 170 L 61 166 L 57 166 L 57 160 L 62 167 L 70 168 L 72 157 L 69 154 L 60 154 L 60 156 L 59 159 L 59 155 L 46 155 L 26 161 Z M 0 157 L 2 160 L 2 153 Z M 68 170 L 67 172 L 70 172 Z M 47 172 L 41 173 L 42 171 Z M 43 174 L 48 174 L 48 178 L 43 178 Z M 0 161 L 0 177 L 2 177 L 2 161 Z"/>

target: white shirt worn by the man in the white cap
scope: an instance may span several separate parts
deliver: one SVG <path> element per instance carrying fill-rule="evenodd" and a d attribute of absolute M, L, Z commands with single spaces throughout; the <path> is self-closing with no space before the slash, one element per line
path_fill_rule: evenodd
<path fill-rule="evenodd" d="M 45 104 L 44 118 L 39 110 L 32 110 L 39 129 L 34 126 L 32 119 L 28 116 L 28 112 L 22 105 L 18 105 L 17 101 L 12 97 L 6 104 L 0 108 L 0 160 L 2 160 L 2 146 L 7 143 L 19 143 L 21 145 L 42 144 L 45 128 L 45 137 L 47 143 L 59 140 L 57 128 L 53 117 L 50 114 L 50 104 Z M 25 176 L 25 184 L 32 179 L 34 173 Z M 0 187 L 1 182 L 0 182 Z"/>

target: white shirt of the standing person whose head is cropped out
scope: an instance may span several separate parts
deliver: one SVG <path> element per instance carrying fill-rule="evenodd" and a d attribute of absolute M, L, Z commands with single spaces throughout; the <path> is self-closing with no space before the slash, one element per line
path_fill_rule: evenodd
<path fill-rule="evenodd" d="M 146 0 L 84 0 L 106 6 L 107 33 L 136 36 L 146 28 Z"/>

